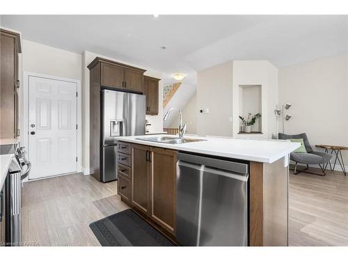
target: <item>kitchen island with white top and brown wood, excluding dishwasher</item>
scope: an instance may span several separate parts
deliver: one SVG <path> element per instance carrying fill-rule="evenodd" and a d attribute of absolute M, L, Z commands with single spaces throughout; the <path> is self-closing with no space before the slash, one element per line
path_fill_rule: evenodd
<path fill-rule="evenodd" d="M 148 136 L 118 137 L 118 193 L 122 201 L 176 240 L 177 153 L 235 161 L 248 166 L 245 245 L 287 246 L 289 155 L 300 143 L 185 138 L 187 142 L 177 144 L 149 141 Z"/>

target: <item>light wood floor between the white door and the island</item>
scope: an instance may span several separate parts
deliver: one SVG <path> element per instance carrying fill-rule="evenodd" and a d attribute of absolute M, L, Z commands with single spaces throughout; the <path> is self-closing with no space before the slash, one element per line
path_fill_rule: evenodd
<path fill-rule="evenodd" d="M 72 174 L 26 182 L 22 241 L 29 246 L 100 246 L 89 224 L 127 209 L 116 182 Z"/>

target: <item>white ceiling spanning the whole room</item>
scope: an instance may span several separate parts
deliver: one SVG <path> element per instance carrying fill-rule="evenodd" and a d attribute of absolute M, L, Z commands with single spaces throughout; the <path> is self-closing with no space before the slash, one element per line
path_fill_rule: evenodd
<path fill-rule="evenodd" d="M 22 38 L 188 74 L 230 60 L 277 67 L 348 52 L 347 15 L 1 15 Z M 166 46 L 166 49 L 161 49 Z"/>

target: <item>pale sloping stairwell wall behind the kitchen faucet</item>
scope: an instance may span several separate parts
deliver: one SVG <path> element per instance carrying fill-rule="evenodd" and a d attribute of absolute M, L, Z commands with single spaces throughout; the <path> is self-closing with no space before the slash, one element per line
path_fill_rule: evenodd
<path fill-rule="evenodd" d="M 182 108 L 182 123 L 191 122 L 187 126 L 187 134 L 197 134 L 197 95 L 191 97 L 189 102 Z M 175 119 L 171 122 L 170 128 L 177 128 L 180 123 L 180 116 L 175 113 Z"/>

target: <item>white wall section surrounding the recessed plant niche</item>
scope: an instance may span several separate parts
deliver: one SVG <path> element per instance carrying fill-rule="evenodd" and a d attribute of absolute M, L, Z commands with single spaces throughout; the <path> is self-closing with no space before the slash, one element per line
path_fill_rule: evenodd
<path fill-rule="evenodd" d="M 262 134 L 238 134 L 239 85 L 261 85 Z M 278 104 L 278 70 L 269 61 L 233 61 L 233 136 L 238 138 L 275 138 L 277 134 L 274 109 Z"/>

